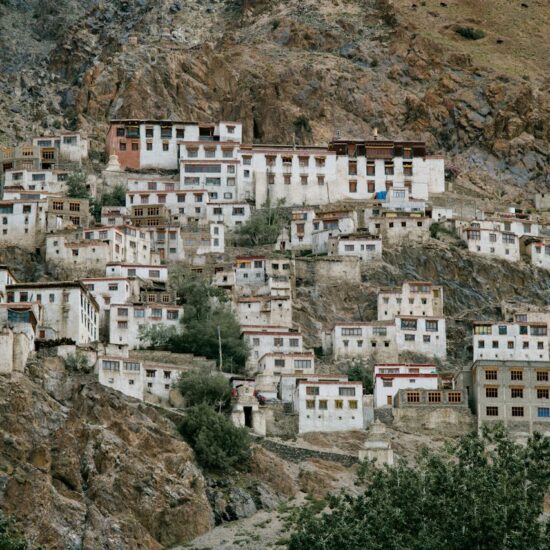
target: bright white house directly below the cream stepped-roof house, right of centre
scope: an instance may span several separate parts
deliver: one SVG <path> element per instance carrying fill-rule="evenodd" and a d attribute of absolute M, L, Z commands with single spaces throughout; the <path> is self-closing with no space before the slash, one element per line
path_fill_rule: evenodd
<path fill-rule="evenodd" d="M 395 317 L 395 342 L 399 353 L 414 352 L 428 357 L 447 357 L 445 317 Z"/>

